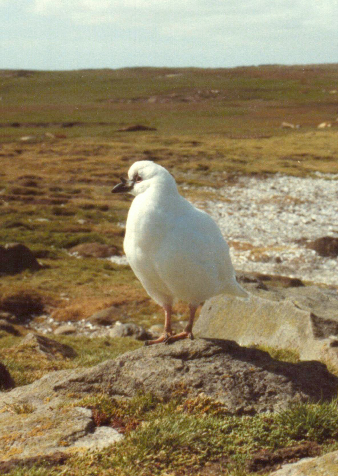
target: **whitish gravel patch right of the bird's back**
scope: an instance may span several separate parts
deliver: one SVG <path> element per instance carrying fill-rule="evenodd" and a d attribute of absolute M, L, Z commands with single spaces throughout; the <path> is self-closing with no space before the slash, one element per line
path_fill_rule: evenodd
<path fill-rule="evenodd" d="M 316 238 L 338 237 L 337 179 L 243 176 L 203 205 L 228 240 L 236 269 L 337 285 L 337 258 L 306 248 Z"/>

